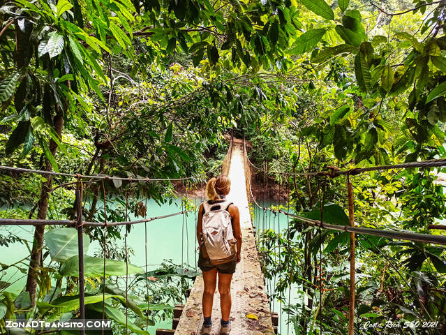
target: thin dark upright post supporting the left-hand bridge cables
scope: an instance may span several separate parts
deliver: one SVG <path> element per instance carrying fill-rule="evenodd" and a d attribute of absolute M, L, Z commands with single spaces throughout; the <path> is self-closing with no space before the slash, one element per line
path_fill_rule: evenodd
<path fill-rule="evenodd" d="M 85 320 L 85 301 L 84 301 L 84 238 L 82 230 L 82 197 L 80 190 L 76 190 L 76 212 L 77 212 L 77 246 L 79 254 L 79 313 L 80 319 Z M 80 329 L 80 334 L 85 334 L 85 329 Z"/>

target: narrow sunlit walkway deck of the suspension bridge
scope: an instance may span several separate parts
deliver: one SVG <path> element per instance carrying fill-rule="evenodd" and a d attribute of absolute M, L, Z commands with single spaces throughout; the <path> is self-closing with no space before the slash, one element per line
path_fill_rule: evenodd
<path fill-rule="evenodd" d="M 228 195 L 228 199 L 239 207 L 243 244 L 241 247 L 241 262 L 237 265 L 237 271 L 232 277 L 231 334 L 272 335 L 274 334 L 272 316 L 269 309 L 269 300 L 265 293 L 265 282 L 260 269 L 259 255 L 255 247 L 251 215 L 246 196 L 242 157 L 241 145 L 235 144 L 229 172 L 231 192 Z M 201 308 L 203 288 L 202 277 L 198 276 L 193 284 L 191 295 L 184 306 L 184 311 L 174 333 L 175 335 L 200 334 L 203 322 Z M 246 314 L 248 313 L 255 315 L 258 319 L 247 318 Z M 220 319 L 220 297 L 217 289 L 214 295 L 211 334 L 218 334 Z"/>

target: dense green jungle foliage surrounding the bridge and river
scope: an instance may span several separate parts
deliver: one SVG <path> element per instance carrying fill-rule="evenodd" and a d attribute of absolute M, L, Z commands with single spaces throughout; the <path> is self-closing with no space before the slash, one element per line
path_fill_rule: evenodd
<path fill-rule="evenodd" d="M 292 211 L 317 218 L 322 202 L 327 221 L 330 211 L 342 221 L 345 180 L 284 173 L 445 156 L 445 9 L 444 1 L 432 0 L 0 1 L 0 163 L 199 181 L 217 167 L 223 135 L 243 128 L 251 160 L 262 168 L 258 185 L 274 177 L 290 190 Z M 438 170 L 354 177 L 357 224 L 439 234 L 429 230 L 445 216 Z M 68 177 L 2 172 L 0 183 L 2 217 L 75 218 Z M 117 207 L 103 201 L 104 192 Z M 170 183 L 87 183 L 83 216 L 124 221 L 128 209 L 144 217 L 141 199 L 165 203 L 176 196 Z M 30 250 L 20 264 L 2 265 L 24 271 L 27 285 L 16 297 L 1 282 L 1 322 L 21 313 L 75 318 L 77 256 L 66 229 L 36 227 L 31 244 L 1 235 L 0 245 Z M 126 232 L 110 228 L 107 244 Z M 86 234 L 105 243 L 102 230 Z M 289 287 L 305 297 L 288 308 L 292 332 L 344 334 L 347 235 L 292 221 L 283 232 L 266 230 L 260 243 L 265 276 L 277 274 L 274 297 L 286 303 Z M 58 244 L 66 245 L 63 253 Z M 110 276 L 105 283 L 97 269 L 87 276 L 88 312 L 102 315 L 105 285 L 108 316 L 123 331 L 126 299 L 117 276 L 128 253 L 110 247 L 96 256 L 86 259 L 89 268 L 106 257 Z M 360 325 L 383 320 L 438 322 L 401 334 L 444 332 L 443 247 L 359 236 L 357 259 L 356 334 L 373 334 Z M 151 276 L 179 276 L 185 285 L 174 265 L 165 268 Z M 149 295 L 135 288 L 127 300 L 135 320 L 129 332 L 142 334 L 165 318 L 166 299 L 181 301 L 177 281 L 166 295 L 160 283 L 151 283 Z M 327 290 L 319 296 L 322 283 Z M 144 307 L 149 297 L 153 313 Z"/>

